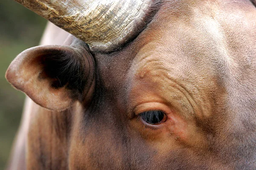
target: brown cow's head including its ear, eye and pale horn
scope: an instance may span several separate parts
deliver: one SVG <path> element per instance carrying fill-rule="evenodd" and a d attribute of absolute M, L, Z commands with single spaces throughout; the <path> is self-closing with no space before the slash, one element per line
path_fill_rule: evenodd
<path fill-rule="evenodd" d="M 30 48 L 7 71 L 61 111 L 35 116 L 30 169 L 256 168 L 251 2 L 17 1 L 81 39 Z"/>

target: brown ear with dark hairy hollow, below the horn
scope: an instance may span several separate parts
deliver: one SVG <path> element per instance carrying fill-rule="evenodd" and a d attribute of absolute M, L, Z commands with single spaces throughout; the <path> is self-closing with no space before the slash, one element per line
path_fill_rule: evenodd
<path fill-rule="evenodd" d="M 6 79 L 44 108 L 63 111 L 93 84 L 93 58 L 84 48 L 42 45 L 20 53 Z"/>

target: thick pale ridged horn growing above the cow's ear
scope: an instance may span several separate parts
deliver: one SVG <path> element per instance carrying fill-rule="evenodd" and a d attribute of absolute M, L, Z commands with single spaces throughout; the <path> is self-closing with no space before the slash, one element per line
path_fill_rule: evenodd
<path fill-rule="evenodd" d="M 111 51 L 135 34 L 151 0 L 16 0 L 93 50 Z"/>

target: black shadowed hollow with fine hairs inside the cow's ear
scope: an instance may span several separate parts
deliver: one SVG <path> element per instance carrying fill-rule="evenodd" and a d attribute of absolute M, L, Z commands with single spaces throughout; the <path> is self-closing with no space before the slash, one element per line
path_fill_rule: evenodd
<path fill-rule="evenodd" d="M 82 94 L 86 84 L 85 60 L 78 51 L 54 50 L 39 57 L 42 71 L 39 79 L 49 79 L 52 88 L 65 87 Z"/>

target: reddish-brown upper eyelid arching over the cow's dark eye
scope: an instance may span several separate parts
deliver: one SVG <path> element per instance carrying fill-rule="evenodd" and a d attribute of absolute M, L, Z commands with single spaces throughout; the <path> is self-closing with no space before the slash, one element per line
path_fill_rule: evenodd
<path fill-rule="evenodd" d="M 163 104 L 163 103 L 160 103 L 160 102 L 147 102 L 147 103 L 143 103 L 143 104 L 140 104 L 138 105 L 135 109 L 134 109 L 134 113 L 135 115 L 139 115 L 140 113 L 142 112 L 145 112 L 145 111 L 163 111 L 164 113 L 166 113 L 166 115 L 168 115 L 169 113 L 171 113 L 171 109 Z"/>

